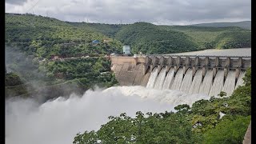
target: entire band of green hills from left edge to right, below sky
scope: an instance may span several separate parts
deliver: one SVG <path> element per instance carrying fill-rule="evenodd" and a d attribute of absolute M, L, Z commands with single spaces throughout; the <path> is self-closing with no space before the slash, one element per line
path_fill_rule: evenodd
<path fill-rule="evenodd" d="M 131 46 L 134 54 L 250 47 L 250 35 L 250 30 L 240 27 L 62 22 L 33 14 L 6 14 L 6 45 L 38 58 L 122 53 L 122 45 Z M 92 44 L 94 40 L 99 42 Z"/>

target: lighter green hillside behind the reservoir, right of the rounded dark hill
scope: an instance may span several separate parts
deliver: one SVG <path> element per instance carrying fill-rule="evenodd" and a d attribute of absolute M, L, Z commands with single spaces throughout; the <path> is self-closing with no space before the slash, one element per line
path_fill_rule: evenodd
<path fill-rule="evenodd" d="M 239 27 L 159 26 L 159 28 L 182 32 L 190 36 L 198 44 L 199 50 L 251 46 L 251 31 Z"/>

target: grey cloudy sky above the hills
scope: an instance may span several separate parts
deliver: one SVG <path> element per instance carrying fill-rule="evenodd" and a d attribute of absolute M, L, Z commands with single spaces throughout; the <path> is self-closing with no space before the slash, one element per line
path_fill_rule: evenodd
<path fill-rule="evenodd" d="M 6 0 L 6 13 L 69 22 L 189 25 L 250 20 L 251 0 Z"/>

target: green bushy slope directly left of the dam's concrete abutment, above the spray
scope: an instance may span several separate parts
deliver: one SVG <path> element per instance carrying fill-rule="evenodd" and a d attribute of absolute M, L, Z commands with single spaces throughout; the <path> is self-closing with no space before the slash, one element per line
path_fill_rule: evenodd
<path fill-rule="evenodd" d="M 117 84 L 114 74 L 110 73 L 110 61 L 105 58 L 78 58 L 58 62 L 45 62 L 50 78 L 73 80 L 88 90 L 94 85 L 110 87 Z"/>

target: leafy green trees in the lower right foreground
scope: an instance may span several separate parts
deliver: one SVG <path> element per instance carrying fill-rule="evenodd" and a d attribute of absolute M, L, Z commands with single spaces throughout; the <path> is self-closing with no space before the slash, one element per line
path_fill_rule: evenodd
<path fill-rule="evenodd" d="M 73 143 L 242 143 L 251 115 L 250 69 L 243 79 L 244 86 L 229 98 L 199 100 L 191 107 L 179 105 L 175 113 L 138 111 L 135 118 L 125 113 L 110 116 L 100 130 L 78 133 Z"/>

